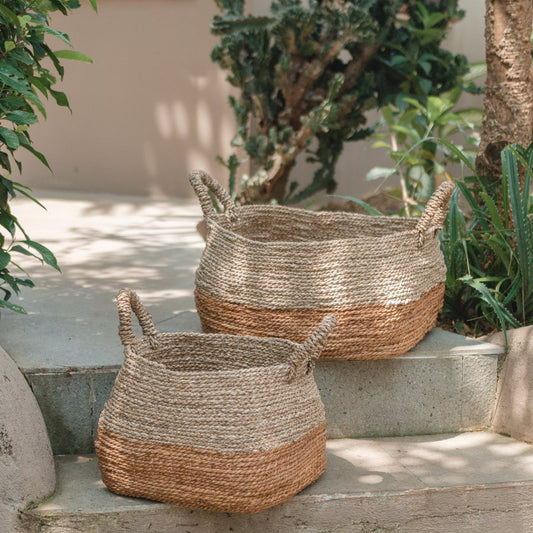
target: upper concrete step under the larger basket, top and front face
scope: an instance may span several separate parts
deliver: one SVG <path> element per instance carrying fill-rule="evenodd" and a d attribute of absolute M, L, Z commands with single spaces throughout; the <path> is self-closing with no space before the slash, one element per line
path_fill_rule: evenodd
<path fill-rule="evenodd" d="M 62 275 L 23 262 L 36 282 L 27 316 L 2 313 L 0 345 L 15 359 L 43 412 L 56 454 L 91 453 L 98 416 L 123 360 L 116 292 L 137 290 L 160 331 L 199 331 L 194 271 L 204 242 L 200 209 L 156 201 L 57 193 L 17 215 L 49 246 Z M 22 258 L 24 259 L 24 258 Z M 488 426 L 502 348 L 440 330 L 405 356 L 319 361 L 316 379 L 329 436 L 458 432 Z"/>

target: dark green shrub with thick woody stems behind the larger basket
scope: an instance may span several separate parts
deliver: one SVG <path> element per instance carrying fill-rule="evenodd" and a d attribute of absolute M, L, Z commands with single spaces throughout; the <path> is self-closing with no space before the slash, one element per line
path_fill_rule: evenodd
<path fill-rule="evenodd" d="M 212 59 L 238 89 L 232 145 L 253 169 L 241 183 L 243 202 L 332 192 L 344 143 L 372 133 L 369 109 L 400 93 L 425 101 L 456 87 L 467 70 L 463 56 L 440 47 L 463 16 L 456 0 L 283 0 L 267 16 L 245 15 L 244 0 L 216 3 Z M 317 167 L 303 188 L 289 183 L 301 153 Z M 240 162 L 235 154 L 225 162 L 232 183 Z"/>

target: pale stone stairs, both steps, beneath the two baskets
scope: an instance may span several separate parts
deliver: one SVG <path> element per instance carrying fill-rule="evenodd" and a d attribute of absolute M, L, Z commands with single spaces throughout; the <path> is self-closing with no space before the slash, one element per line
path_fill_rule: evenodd
<path fill-rule="evenodd" d="M 200 211 L 94 195 L 44 201 L 48 213 L 26 201 L 17 213 L 32 220 L 30 235 L 55 251 L 63 274 L 24 265 L 36 282 L 23 294 L 30 314 L 3 314 L 0 335 L 57 456 L 56 495 L 22 513 L 24 531 L 501 531 L 490 528 L 503 519 L 510 531 L 533 531 L 533 447 L 481 431 L 502 348 L 438 329 L 390 360 L 318 362 L 329 466 L 286 504 L 238 516 L 109 493 L 90 454 L 122 362 L 113 297 L 132 287 L 160 331 L 198 331 Z"/>

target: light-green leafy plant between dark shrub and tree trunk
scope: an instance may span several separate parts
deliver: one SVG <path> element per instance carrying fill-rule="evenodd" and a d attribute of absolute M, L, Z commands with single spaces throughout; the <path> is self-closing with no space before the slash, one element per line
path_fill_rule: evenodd
<path fill-rule="evenodd" d="M 417 99 L 399 95 L 396 102 L 381 109 L 382 120 L 373 138 L 373 148 L 385 148 L 393 167 L 374 167 L 366 178 L 400 179 L 403 214 L 417 213 L 433 194 L 436 184 L 447 179 L 446 166 L 457 162 L 452 150 L 438 145 L 438 139 L 454 138 L 462 153 L 474 161 L 479 145 L 481 109 L 456 110 L 463 90 L 480 92 L 472 81 L 486 72 L 484 63 L 470 65 L 469 72 L 452 90 Z M 414 208 L 414 209 L 413 209 Z"/>

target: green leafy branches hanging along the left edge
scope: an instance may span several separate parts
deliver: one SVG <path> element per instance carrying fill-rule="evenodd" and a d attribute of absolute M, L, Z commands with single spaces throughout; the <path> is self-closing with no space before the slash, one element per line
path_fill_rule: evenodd
<path fill-rule="evenodd" d="M 90 0 L 96 10 L 96 0 Z M 22 170 L 18 151 L 27 150 L 49 168 L 45 156 L 32 145 L 30 126 L 46 118 L 44 98 L 69 108 L 67 96 L 54 87 L 63 78 L 60 59 L 90 61 L 71 49 L 53 51 L 48 37 L 71 46 L 69 36 L 50 27 L 49 13 L 67 15 L 80 6 L 78 0 L 3 0 L 0 4 L 0 308 L 24 313 L 11 301 L 21 287 L 33 282 L 17 264 L 16 254 L 32 256 L 59 270 L 53 253 L 33 241 L 11 210 L 17 195 L 33 198 L 28 187 L 13 180 L 14 167 Z M 48 65 L 48 66 L 47 66 Z M 41 205 L 41 204 L 39 204 Z"/>

